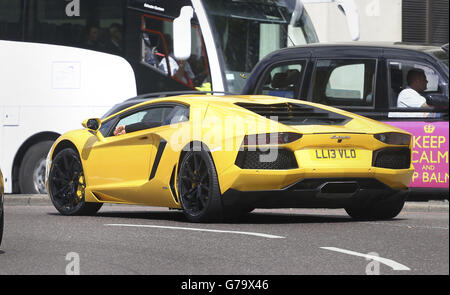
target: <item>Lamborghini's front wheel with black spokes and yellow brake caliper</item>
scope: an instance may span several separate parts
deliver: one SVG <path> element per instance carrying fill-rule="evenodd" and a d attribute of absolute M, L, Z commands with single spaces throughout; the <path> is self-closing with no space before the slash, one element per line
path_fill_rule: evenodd
<path fill-rule="evenodd" d="M 55 156 L 48 181 L 50 198 L 62 215 L 91 215 L 103 205 L 85 202 L 83 166 L 80 156 L 72 148 L 63 149 Z"/>

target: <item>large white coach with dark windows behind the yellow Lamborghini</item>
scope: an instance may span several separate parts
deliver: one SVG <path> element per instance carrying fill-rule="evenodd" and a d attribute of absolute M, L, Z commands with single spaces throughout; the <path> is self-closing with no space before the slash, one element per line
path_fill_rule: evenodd
<path fill-rule="evenodd" d="M 305 1 L 337 1 L 344 10 L 352 8 L 347 3 L 353 2 Z M 347 16 L 354 15 L 352 9 L 345 11 Z M 184 35 L 174 35 L 183 31 Z M 41 155 L 51 142 L 91 112 L 101 116 L 102 107 L 114 105 L 119 96 L 131 97 L 133 91 L 239 93 L 266 54 L 318 42 L 301 0 L 1 0 L 0 40 L 17 41 L 0 45 L 0 83 L 4 83 L 0 91 L 0 114 L 4 115 L 0 167 L 8 193 L 44 193 Z M 190 48 L 183 48 L 189 43 Z M 16 50 L 17 54 L 11 55 Z M 27 62 L 19 52 L 28 54 Z M 180 57 L 179 52 L 187 55 Z M 111 54 L 117 55 L 114 61 Z M 125 60 L 134 73 L 135 88 L 129 85 L 130 68 L 119 71 L 126 68 Z M 70 67 L 70 62 L 77 70 L 77 61 L 81 61 L 80 79 L 89 73 L 92 80 L 78 81 L 82 90 L 52 88 L 51 83 L 55 79 L 58 83 L 59 78 L 49 71 Z M 95 67 L 101 70 L 91 75 L 97 71 Z M 28 80 L 24 81 L 23 73 Z M 116 79 L 106 81 L 104 75 Z M 41 84 L 41 79 L 47 84 Z M 98 93 L 102 96 L 95 95 Z"/>

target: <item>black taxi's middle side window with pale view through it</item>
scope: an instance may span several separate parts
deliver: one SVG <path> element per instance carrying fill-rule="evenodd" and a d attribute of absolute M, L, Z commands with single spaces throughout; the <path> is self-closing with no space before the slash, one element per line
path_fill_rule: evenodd
<path fill-rule="evenodd" d="M 376 60 L 318 60 L 312 100 L 333 106 L 373 106 Z"/>

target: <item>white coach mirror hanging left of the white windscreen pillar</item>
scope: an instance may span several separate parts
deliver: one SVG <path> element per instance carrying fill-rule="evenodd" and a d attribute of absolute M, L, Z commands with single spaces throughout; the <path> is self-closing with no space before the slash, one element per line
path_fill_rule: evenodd
<path fill-rule="evenodd" d="M 183 6 L 180 16 L 173 21 L 173 55 L 177 60 L 187 60 L 191 56 L 191 19 L 194 10 Z"/>

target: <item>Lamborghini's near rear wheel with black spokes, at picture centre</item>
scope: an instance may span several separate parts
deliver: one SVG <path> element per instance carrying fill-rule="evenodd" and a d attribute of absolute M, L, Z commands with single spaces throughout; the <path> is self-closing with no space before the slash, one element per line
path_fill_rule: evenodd
<path fill-rule="evenodd" d="M 205 148 L 188 151 L 178 171 L 178 194 L 186 218 L 191 222 L 221 221 L 219 181 L 213 159 Z"/>

